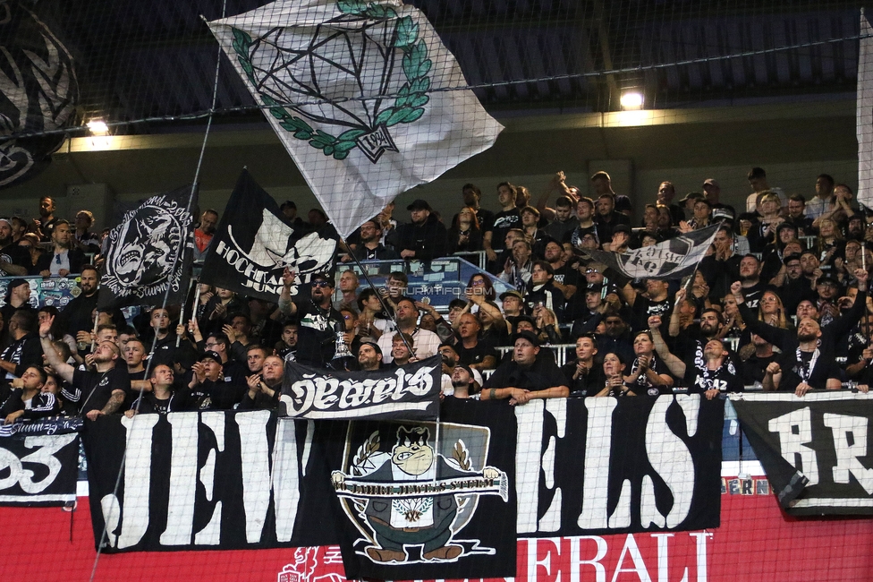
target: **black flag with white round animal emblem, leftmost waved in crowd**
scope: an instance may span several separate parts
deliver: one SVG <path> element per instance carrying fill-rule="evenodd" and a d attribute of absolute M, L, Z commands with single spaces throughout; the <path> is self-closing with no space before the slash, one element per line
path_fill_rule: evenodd
<path fill-rule="evenodd" d="M 164 303 L 165 294 L 167 304 L 184 301 L 194 249 L 190 209 L 196 206 L 197 189 L 188 185 L 152 196 L 125 213 L 108 235 L 98 306 L 156 306 Z"/>

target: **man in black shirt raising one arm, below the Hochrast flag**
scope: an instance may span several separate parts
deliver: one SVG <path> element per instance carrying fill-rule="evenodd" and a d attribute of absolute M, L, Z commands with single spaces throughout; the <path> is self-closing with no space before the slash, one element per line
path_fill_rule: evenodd
<path fill-rule="evenodd" d="M 293 271 L 284 270 L 279 310 L 295 317 L 300 323 L 297 330 L 297 362 L 324 368 L 334 357 L 335 329 L 343 321 L 343 315 L 336 311 L 331 300 L 334 282 L 324 273 L 313 275 L 309 297 L 302 297 L 297 295 L 296 289 L 292 293 L 295 277 Z M 296 295 L 293 300 L 292 295 Z"/>

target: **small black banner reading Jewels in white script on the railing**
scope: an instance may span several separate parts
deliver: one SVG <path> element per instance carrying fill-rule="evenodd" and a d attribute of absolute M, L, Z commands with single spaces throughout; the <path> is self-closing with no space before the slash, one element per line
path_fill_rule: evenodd
<path fill-rule="evenodd" d="M 333 372 L 289 362 L 279 401 L 294 418 L 435 420 L 442 370 L 439 355 L 372 372 Z"/>

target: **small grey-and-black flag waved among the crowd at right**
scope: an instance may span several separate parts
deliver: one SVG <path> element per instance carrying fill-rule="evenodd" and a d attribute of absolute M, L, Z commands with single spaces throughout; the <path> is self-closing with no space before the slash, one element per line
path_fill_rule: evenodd
<path fill-rule="evenodd" d="M 692 230 L 663 243 L 628 252 L 590 251 L 589 254 L 628 278 L 682 278 L 697 269 L 719 226 Z"/>

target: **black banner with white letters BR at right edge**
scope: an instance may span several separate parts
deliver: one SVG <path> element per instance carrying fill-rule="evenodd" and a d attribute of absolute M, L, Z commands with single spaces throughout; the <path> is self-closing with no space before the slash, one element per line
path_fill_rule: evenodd
<path fill-rule="evenodd" d="M 743 394 L 733 407 L 786 513 L 873 515 L 873 397 Z"/>

